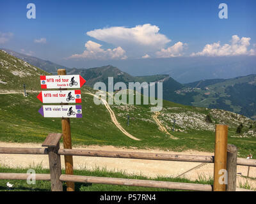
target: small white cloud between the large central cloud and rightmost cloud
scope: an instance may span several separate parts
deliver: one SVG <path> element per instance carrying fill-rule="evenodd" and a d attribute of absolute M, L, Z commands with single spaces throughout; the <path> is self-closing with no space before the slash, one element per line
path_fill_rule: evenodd
<path fill-rule="evenodd" d="M 159 58 L 168 58 L 168 57 L 179 57 L 182 56 L 182 51 L 186 47 L 186 43 L 177 42 L 172 47 L 166 49 L 162 48 L 160 51 L 156 52 L 156 56 Z"/>

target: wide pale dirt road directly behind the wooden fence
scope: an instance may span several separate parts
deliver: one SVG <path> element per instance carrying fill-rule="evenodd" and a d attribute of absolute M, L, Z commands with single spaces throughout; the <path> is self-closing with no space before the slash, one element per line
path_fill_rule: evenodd
<path fill-rule="evenodd" d="M 61 143 L 61 148 L 63 144 Z M 0 142 L 0 147 L 42 147 L 40 143 L 6 143 Z M 212 156 L 211 152 L 199 152 L 196 150 L 186 150 L 184 152 L 164 151 L 159 149 L 126 149 L 124 147 L 113 146 L 76 146 L 72 149 L 86 149 L 86 150 L 114 150 L 114 151 L 126 151 L 126 152 L 146 152 L 146 153 L 166 153 L 166 154 L 189 154 L 189 155 L 205 155 Z M 74 169 L 79 170 L 86 167 L 88 170 L 93 170 L 96 167 L 106 168 L 109 171 L 125 171 L 125 173 L 131 175 L 143 175 L 145 177 L 177 177 L 181 175 L 181 178 L 190 180 L 196 180 L 198 177 L 204 177 L 208 179 L 213 177 L 212 163 L 205 163 L 204 166 L 195 168 L 200 163 L 193 162 L 180 162 L 180 161 L 154 161 L 145 159 L 122 159 L 122 158 L 108 158 L 108 157 L 84 157 L 73 156 Z M 0 154 L 0 165 L 6 164 L 10 167 L 28 167 L 29 165 L 41 164 L 43 168 L 49 168 L 49 159 L 47 155 L 26 155 L 26 154 Z M 65 168 L 64 156 L 61 156 L 61 166 Z M 195 168 L 191 170 L 192 168 Z M 189 171 L 191 170 L 191 171 Z M 237 173 L 247 175 L 247 166 L 237 166 Z M 188 171 L 188 172 L 187 172 Z M 250 168 L 250 177 L 256 177 L 256 167 Z M 237 176 L 237 186 L 239 184 L 245 184 L 246 181 L 251 187 L 256 188 L 256 180 L 244 179 Z"/>

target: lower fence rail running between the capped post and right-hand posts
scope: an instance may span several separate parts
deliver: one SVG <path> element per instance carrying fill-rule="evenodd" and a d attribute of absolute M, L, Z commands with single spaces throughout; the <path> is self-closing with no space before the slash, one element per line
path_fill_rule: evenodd
<path fill-rule="evenodd" d="M 60 176 L 61 181 L 92 183 L 92 184 L 111 184 L 123 186 L 141 186 L 141 187 L 159 187 L 164 189 L 178 189 L 185 191 L 212 191 L 212 186 L 209 184 L 189 184 L 180 182 L 165 182 L 157 180 L 138 180 L 138 179 L 119 179 L 109 177 L 88 177 L 79 175 L 64 175 Z"/>

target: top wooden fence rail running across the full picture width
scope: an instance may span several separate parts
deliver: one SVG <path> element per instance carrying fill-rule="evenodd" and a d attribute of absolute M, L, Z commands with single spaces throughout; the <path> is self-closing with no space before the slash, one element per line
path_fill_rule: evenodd
<path fill-rule="evenodd" d="M 0 154 L 48 154 L 47 148 L 16 148 L 0 147 Z M 116 157 L 126 159 L 152 159 L 163 161 L 188 161 L 200 163 L 214 163 L 214 156 L 183 155 L 183 154 L 158 154 L 143 152 L 118 152 L 106 150 L 79 150 L 79 149 L 59 149 L 60 155 L 90 156 L 90 157 Z M 237 158 L 237 165 L 255 166 L 256 159 Z"/>

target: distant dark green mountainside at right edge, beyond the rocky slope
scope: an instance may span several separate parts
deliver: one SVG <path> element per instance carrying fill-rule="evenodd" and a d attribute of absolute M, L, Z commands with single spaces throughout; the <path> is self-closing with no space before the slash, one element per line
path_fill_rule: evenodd
<path fill-rule="evenodd" d="M 256 75 L 196 83 L 195 87 L 190 84 L 192 88 L 184 87 L 176 92 L 186 98 L 193 94 L 193 106 L 220 108 L 256 119 Z"/>

